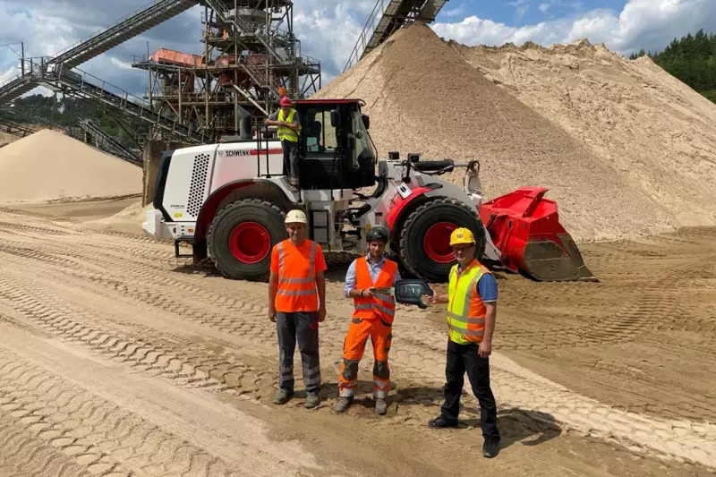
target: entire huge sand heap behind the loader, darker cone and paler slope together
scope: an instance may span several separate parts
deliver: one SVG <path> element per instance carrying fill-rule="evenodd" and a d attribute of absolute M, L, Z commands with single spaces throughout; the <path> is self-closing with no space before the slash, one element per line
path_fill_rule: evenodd
<path fill-rule="evenodd" d="M 477 158 L 488 198 L 549 188 L 576 240 L 716 225 L 716 106 L 603 45 L 465 47 L 416 24 L 316 98 L 362 98 L 382 158 Z"/>

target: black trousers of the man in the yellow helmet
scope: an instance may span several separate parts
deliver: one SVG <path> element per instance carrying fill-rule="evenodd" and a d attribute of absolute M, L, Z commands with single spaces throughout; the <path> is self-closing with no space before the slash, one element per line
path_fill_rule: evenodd
<path fill-rule="evenodd" d="M 499 439 L 498 408 L 490 388 L 490 358 L 481 358 L 478 344 L 458 345 L 447 340 L 445 365 L 445 403 L 440 407 L 442 417 L 457 422 L 460 413 L 460 396 L 465 385 L 465 372 L 480 403 L 480 425 L 485 439 Z"/>

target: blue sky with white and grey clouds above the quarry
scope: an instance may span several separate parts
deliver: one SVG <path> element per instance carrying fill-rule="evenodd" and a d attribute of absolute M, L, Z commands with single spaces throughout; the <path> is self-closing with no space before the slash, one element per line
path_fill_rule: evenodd
<path fill-rule="evenodd" d="M 0 0 L 0 44 L 22 40 L 28 55 L 54 55 L 148 2 Z M 294 29 L 303 53 L 321 60 L 324 84 L 342 71 L 375 3 L 294 0 Z M 132 68 L 132 55 L 146 53 L 148 44 L 151 51 L 168 47 L 200 53 L 202 11 L 193 7 L 80 68 L 143 95 L 147 73 Z M 586 38 L 628 55 L 641 48 L 662 49 L 672 38 L 698 29 L 716 33 L 716 0 L 449 0 L 430 26 L 440 37 L 469 46 L 529 40 L 549 47 Z M 0 47 L 0 82 L 17 73 L 17 61 L 12 50 Z"/>

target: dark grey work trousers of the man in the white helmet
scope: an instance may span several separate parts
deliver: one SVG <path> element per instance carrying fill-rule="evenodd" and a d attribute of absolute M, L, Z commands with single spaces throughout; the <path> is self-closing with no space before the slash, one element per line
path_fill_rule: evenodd
<path fill-rule="evenodd" d="M 294 352 L 297 340 L 306 392 L 318 393 L 320 390 L 319 312 L 277 311 L 276 328 L 279 351 L 278 388 L 289 393 L 294 392 Z"/>

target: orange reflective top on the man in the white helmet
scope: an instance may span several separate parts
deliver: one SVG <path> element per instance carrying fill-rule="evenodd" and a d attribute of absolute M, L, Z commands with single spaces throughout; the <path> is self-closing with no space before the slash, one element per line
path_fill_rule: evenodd
<path fill-rule="evenodd" d="M 274 303 L 276 311 L 292 313 L 319 309 L 316 254 L 319 253 L 320 248 L 318 243 L 308 240 L 306 242 L 311 243 L 308 266 L 306 266 L 303 255 L 296 256 L 288 253 L 288 247 L 294 247 L 291 239 L 286 239 L 276 245 L 278 249 L 278 288 Z"/>

